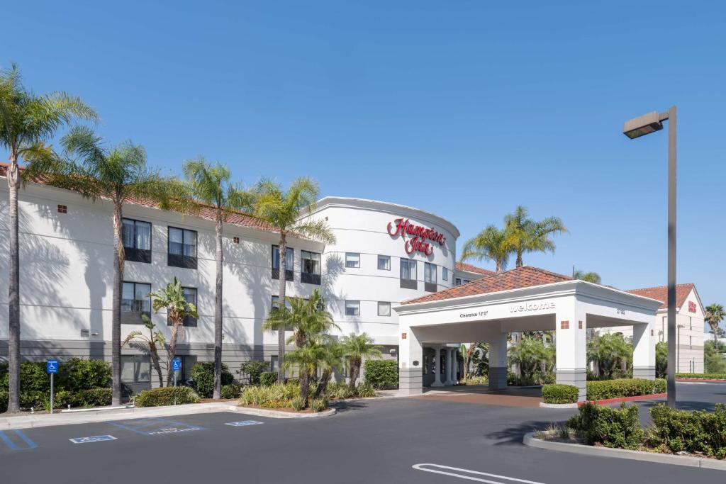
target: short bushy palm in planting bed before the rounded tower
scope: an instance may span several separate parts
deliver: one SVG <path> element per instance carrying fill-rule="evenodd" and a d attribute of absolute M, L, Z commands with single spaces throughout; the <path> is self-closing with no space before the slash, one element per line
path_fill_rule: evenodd
<path fill-rule="evenodd" d="M 295 364 L 302 364 L 298 368 L 301 396 L 307 405 L 310 375 L 315 371 L 309 365 L 312 364 L 313 356 L 322 358 L 322 350 L 318 348 L 321 345 L 316 342 L 330 329 L 340 329 L 340 327 L 333 322 L 333 315 L 325 309 L 325 301 L 317 289 L 312 292 L 308 300 L 287 298 L 287 303 L 290 304 L 290 308 L 277 302 L 262 325 L 262 329 L 280 333 L 284 333 L 286 328 L 293 331 L 293 335 L 287 340 L 287 343 L 295 342 Z M 320 358 L 315 361 L 319 361 Z M 287 363 L 285 362 L 285 369 L 292 365 L 292 363 Z"/>

